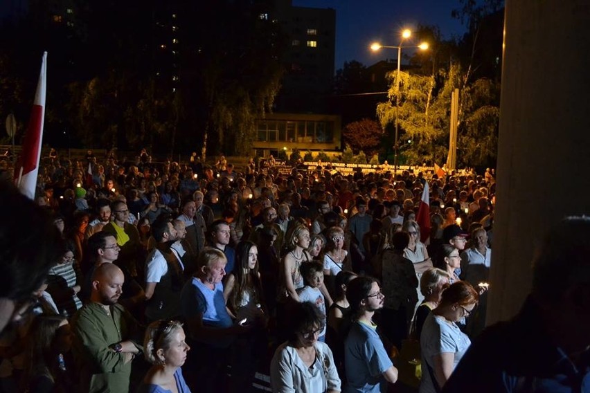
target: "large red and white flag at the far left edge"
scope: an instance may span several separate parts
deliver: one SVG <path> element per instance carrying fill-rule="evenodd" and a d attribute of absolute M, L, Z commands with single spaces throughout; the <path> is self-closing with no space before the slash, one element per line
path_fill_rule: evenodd
<path fill-rule="evenodd" d="M 35 199 L 37 174 L 39 174 L 39 159 L 41 158 L 41 142 L 43 140 L 43 123 L 45 119 L 46 86 L 47 52 L 44 52 L 33 111 L 30 113 L 22 152 L 15 166 L 14 174 L 15 184 L 21 194 L 24 194 L 29 199 Z"/>

